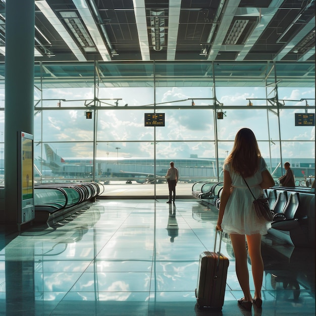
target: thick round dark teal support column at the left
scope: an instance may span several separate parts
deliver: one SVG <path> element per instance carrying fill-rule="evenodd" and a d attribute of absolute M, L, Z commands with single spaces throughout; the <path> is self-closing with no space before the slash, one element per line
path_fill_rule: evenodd
<path fill-rule="evenodd" d="M 0 220 L 17 224 L 17 133 L 34 130 L 34 0 L 6 2 L 5 212 Z"/>

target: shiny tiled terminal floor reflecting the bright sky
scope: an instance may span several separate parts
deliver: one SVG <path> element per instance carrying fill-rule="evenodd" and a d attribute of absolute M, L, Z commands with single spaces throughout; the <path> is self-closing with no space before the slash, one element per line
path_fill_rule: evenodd
<path fill-rule="evenodd" d="M 0 314 L 250 315 L 237 306 L 243 295 L 225 235 L 223 309 L 196 306 L 199 254 L 213 251 L 217 214 L 196 199 L 99 200 L 60 225 L 3 234 Z M 252 315 L 314 315 L 314 249 L 268 234 L 262 255 L 264 303 Z"/>

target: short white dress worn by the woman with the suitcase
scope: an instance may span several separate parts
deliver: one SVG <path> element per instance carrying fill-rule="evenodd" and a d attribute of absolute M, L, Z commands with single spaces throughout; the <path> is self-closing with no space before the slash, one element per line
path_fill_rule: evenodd
<path fill-rule="evenodd" d="M 224 165 L 232 179 L 232 191 L 228 198 L 222 221 L 222 229 L 225 233 L 252 235 L 260 233 L 267 234 L 268 223 L 265 219 L 260 220 L 256 216 L 253 206 L 253 196 L 251 195 L 244 179 L 240 174 L 232 171 L 231 165 Z M 267 164 L 261 157 L 259 159 L 258 170 L 249 178 L 245 178 L 253 195 L 257 198 L 264 191 L 259 184 L 262 182 L 261 172 L 267 170 Z"/>

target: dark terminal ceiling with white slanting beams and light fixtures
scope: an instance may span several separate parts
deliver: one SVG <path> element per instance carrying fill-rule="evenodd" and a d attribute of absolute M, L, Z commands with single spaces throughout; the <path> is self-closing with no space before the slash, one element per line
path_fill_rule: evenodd
<path fill-rule="evenodd" d="M 35 0 L 35 8 L 36 62 L 315 59 L 314 0 Z M 1 2 L 0 62 L 5 10 Z"/>

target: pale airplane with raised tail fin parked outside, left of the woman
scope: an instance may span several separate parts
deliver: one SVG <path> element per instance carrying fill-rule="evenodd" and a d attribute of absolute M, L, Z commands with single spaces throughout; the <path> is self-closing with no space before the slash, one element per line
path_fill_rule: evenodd
<path fill-rule="evenodd" d="M 58 155 L 48 144 L 44 144 L 46 160 L 40 158 L 43 167 L 51 171 L 52 176 L 65 178 L 91 178 L 93 176 L 92 158 L 65 158 Z M 163 183 L 170 168 L 170 159 L 156 159 L 156 173 L 152 158 L 102 157 L 96 159 L 96 178 L 125 180 L 126 183 Z M 197 179 L 216 178 L 215 159 L 180 158 L 176 159 L 179 169 L 179 181 L 195 182 Z"/>

